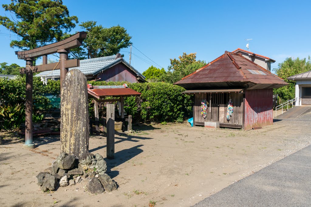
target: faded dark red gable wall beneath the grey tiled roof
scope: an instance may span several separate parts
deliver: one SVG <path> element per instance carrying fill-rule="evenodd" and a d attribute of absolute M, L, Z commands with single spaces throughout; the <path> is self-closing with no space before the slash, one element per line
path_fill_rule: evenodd
<path fill-rule="evenodd" d="M 111 68 L 103 71 L 96 76 L 96 79 L 100 78 L 100 81 L 127 81 L 136 83 L 136 73 L 132 72 L 123 63 L 118 63 Z"/>

